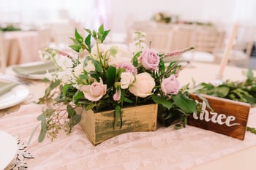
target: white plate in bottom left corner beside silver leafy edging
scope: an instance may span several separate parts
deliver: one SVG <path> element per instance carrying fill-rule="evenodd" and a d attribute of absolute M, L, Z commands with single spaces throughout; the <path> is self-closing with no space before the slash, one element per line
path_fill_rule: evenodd
<path fill-rule="evenodd" d="M 17 151 L 17 139 L 4 131 L 0 131 L 0 169 L 5 169 L 12 162 Z"/>

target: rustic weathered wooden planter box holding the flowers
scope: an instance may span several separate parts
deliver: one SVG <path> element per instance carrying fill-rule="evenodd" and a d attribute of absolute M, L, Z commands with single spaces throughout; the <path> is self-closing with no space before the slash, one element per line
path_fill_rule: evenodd
<path fill-rule="evenodd" d="M 92 110 L 82 112 L 80 125 L 90 142 L 96 146 L 113 136 L 134 131 L 155 131 L 157 129 L 157 104 L 147 104 L 122 109 L 123 125 L 114 128 L 115 111 L 94 113 Z"/>

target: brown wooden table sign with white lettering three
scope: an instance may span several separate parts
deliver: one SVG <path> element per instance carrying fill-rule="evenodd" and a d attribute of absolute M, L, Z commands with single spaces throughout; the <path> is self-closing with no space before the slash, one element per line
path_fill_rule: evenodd
<path fill-rule="evenodd" d="M 213 110 L 208 109 L 204 101 L 192 94 L 191 97 L 202 104 L 202 111 L 189 115 L 188 124 L 244 140 L 250 105 L 225 98 L 201 96 L 208 100 Z"/>

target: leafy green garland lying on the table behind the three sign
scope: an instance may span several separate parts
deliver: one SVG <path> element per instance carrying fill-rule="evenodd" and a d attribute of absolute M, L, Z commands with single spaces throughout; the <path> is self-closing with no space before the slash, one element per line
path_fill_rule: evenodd
<path fill-rule="evenodd" d="M 220 85 L 202 82 L 199 86 L 203 86 L 203 88 L 200 88 L 198 92 L 233 101 L 241 101 L 251 105 L 256 104 L 256 77 L 252 69 L 249 69 L 244 74 L 246 74 L 246 80 L 244 81 L 226 80 Z M 246 130 L 256 134 L 255 128 L 247 127 Z"/>

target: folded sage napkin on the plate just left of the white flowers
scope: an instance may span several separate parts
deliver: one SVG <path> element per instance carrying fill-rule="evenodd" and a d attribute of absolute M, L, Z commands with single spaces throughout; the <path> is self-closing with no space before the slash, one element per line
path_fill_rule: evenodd
<path fill-rule="evenodd" d="M 29 66 L 13 66 L 12 70 L 17 74 L 28 76 L 29 74 L 45 74 L 46 70 L 49 72 L 55 71 L 57 68 L 53 62 L 39 63 Z"/>

